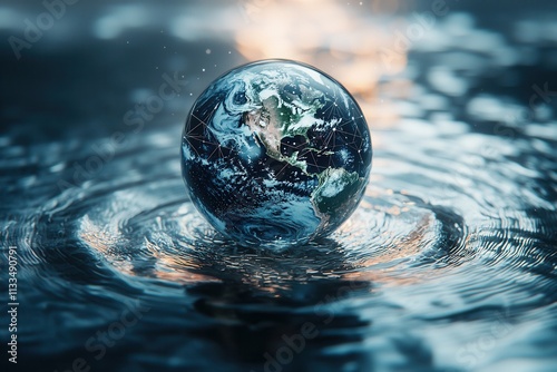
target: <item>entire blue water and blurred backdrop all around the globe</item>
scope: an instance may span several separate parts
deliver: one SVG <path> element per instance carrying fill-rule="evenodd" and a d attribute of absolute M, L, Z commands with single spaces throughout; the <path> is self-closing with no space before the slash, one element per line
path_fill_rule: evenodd
<path fill-rule="evenodd" d="M 434 1 L 307 3 L 81 0 L 19 59 L 47 10 L 0 4 L 9 371 L 557 370 L 556 4 L 447 1 L 420 35 Z M 265 57 L 345 82 L 374 145 L 353 217 L 282 253 L 213 233 L 179 172 L 194 99 Z"/>

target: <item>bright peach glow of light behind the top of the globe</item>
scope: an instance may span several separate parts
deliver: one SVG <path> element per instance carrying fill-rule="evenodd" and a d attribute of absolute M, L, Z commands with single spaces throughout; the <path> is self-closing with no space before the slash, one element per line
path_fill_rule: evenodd
<path fill-rule="evenodd" d="M 394 36 L 380 17 L 399 8 L 398 1 L 372 6 L 334 0 L 246 0 L 247 21 L 235 32 L 237 50 L 248 60 L 286 58 L 306 62 L 330 74 L 358 97 L 370 123 L 392 126 L 397 111 L 378 101 L 378 81 L 402 71 L 405 52 L 391 55 Z M 409 91 L 409 81 L 390 87 Z"/>

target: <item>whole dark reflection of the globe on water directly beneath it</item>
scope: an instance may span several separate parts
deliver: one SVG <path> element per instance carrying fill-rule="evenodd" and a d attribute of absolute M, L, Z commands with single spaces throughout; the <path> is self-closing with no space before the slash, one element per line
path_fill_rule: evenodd
<path fill-rule="evenodd" d="M 238 258 L 234 265 L 226 260 Z M 324 349 L 363 340 L 370 322 L 346 309 L 368 281 L 349 281 L 339 244 L 329 238 L 287 251 L 232 247 L 199 252 L 198 273 L 221 280 L 186 288 L 194 309 L 212 320 L 199 337 L 219 345 L 231 362 L 253 371 L 338 371 L 348 363 L 367 370 L 370 355 L 358 347 Z"/>

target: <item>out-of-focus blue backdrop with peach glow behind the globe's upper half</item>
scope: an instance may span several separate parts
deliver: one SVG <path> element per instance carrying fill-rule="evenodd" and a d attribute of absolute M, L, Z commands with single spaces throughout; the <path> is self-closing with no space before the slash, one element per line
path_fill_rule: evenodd
<path fill-rule="evenodd" d="M 163 114 L 170 117 L 160 115 L 159 121 L 183 121 L 193 100 L 214 78 L 238 65 L 267 58 L 315 66 L 356 96 L 370 121 L 390 126 L 397 120 L 397 110 L 378 100 L 378 84 L 397 76 L 389 78 L 389 84 L 383 81 L 380 89 L 387 90 L 387 95 L 408 95 L 412 79 L 420 78 L 420 71 L 408 66 L 408 53 L 434 55 L 438 47 L 433 46 L 453 42 L 449 37 L 463 50 L 516 59 L 508 53 L 509 48 L 500 52 L 494 49 L 502 48 L 498 46 L 504 46 L 500 41 L 505 40 L 490 30 L 515 35 L 519 40 L 520 35 L 516 33 L 524 32 L 525 46 L 531 42 L 528 38 L 550 41 L 550 17 L 557 13 L 557 3 L 551 1 L 536 2 L 547 7 L 547 21 L 539 18 L 536 7 L 520 1 L 500 6 L 495 1 L 457 0 L 247 0 L 214 1 L 211 7 L 203 1 L 77 1 L 62 2 L 63 9 L 57 1 L 46 3 L 56 7 L 48 10 L 45 4 L 30 1 L 4 1 L 0 6 L 0 39 L 6 40 L 0 49 L 6 71 L 0 88 L 2 129 L 7 125 L 26 125 L 40 112 L 47 118 L 56 117 L 60 125 L 67 123 L 65 128 L 71 133 L 71 120 L 85 114 L 82 119 L 91 124 L 82 125 L 91 126 L 90 135 L 98 130 L 100 136 L 107 135 L 110 130 L 102 128 L 114 126 L 119 120 L 117 116 L 126 112 L 115 110 L 134 107 L 148 97 L 162 74 L 177 71 L 187 76 L 187 92 L 180 92 L 178 100 L 165 108 Z M 438 14 L 433 14 L 436 9 Z M 45 30 L 38 30 L 37 41 L 14 41 L 13 37 L 27 42 L 25 31 L 30 26 L 26 19 L 37 28 L 38 18 L 49 12 L 58 12 L 59 18 L 50 17 L 49 25 L 48 17 L 42 17 Z M 334 21 L 320 27 L 322 19 Z M 524 21 L 508 22 L 509 19 Z M 534 19 L 537 25 L 532 26 Z M 478 27 L 483 30 L 467 33 Z M 84 70 L 72 68 L 79 66 Z M 82 86 L 85 77 L 76 74 L 92 67 L 95 74 L 102 75 L 96 85 Z M 43 75 L 45 71 L 49 74 Z M 140 71 L 141 81 L 134 81 L 131 71 Z M 23 76 L 33 84 L 23 88 L 28 84 L 21 80 Z M 108 82 L 114 97 L 97 94 Z M 76 101 L 63 101 L 61 96 L 45 97 L 43 90 L 49 87 L 80 97 L 79 107 Z M 43 138 L 63 135 L 51 134 L 48 128 L 39 130 Z"/>

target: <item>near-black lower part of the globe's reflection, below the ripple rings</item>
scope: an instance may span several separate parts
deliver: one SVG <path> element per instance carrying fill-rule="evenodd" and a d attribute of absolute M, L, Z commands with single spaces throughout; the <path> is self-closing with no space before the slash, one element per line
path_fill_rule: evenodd
<path fill-rule="evenodd" d="M 323 359 L 329 369 L 349 362 L 359 368 L 369 365 L 362 351 L 323 353 L 364 339 L 370 322 L 331 304 L 348 301 L 351 292 L 368 287 L 367 282 L 316 280 L 293 284 L 289 296 L 268 298 L 254 293 L 253 286 L 231 282 L 195 286 L 187 293 L 199 297 L 194 309 L 215 321 L 199 336 L 219 344 L 234 360 L 255 363 L 254 368 L 278 364 L 296 371 L 314 368 L 315 360 Z"/>

